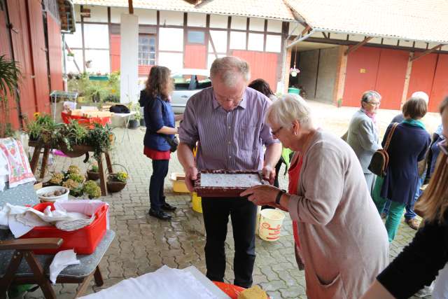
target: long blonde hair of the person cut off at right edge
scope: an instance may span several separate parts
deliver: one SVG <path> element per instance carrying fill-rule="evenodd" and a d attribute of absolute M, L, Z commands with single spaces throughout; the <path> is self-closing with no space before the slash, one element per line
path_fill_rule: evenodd
<path fill-rule="evenodd" d="M 440 114 L 448 109 L 448 97 L 440 105 Z M 446 125 L 446 124 L 445 124 Z M 428 187 L 416 203 L 415 208 L 423 213 L 427 221 L 442 223 L 448 210 L 448 156 L 442 151 L 437 158 L 435 171 Z"/>

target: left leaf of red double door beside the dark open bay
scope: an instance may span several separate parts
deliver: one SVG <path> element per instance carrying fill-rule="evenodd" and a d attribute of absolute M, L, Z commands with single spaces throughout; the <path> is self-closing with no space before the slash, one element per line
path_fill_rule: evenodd
<path fill-rule="evenodd" d="M 380 53 L 380 48 L 364 47 L 349 54 L 342 98 L 344 106 L 360 106 L 363 92 L 375 89 Z"/>

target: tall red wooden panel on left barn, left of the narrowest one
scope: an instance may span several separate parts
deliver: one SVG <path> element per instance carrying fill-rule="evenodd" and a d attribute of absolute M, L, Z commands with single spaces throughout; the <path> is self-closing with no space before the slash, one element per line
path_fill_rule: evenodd
<path fill-rule="evenodd" d="M 45 35 L 43 32 L 41 1 L 29 0 L 27 3 L 37 111 L 50 113 L 50 90 L 48 86 L 48 69 L 45 53 Z"/>

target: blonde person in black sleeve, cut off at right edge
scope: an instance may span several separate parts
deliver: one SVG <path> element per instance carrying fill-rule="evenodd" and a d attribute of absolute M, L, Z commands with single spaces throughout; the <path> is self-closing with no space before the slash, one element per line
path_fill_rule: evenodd
<path fill-rule="evenodd" d="M 448 136 L 448 98 L 440 106 L 443 135 Z M 409 298 L 435 279 L 434 299 L 448 298 L 448 145 L 440 141 L 433 176 L 416 210 L 425 216 L 414 239 L 381 272 L 362 299 Z M 420 297 L 420 296 L 419 296 Z"/>

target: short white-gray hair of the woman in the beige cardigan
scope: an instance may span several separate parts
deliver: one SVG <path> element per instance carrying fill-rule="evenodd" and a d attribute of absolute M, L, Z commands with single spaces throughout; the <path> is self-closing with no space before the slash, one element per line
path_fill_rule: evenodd
<path fill-rule="evenodd" d="M 306 128 L 312 125 L 311 109 L 300 95 L 290 93 L 283 95 L 267 109 L 266 123 L 290 127 L 294 120 Z"/>

